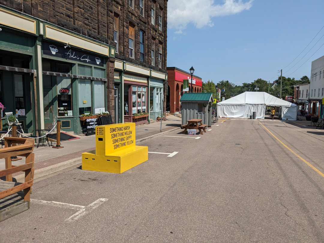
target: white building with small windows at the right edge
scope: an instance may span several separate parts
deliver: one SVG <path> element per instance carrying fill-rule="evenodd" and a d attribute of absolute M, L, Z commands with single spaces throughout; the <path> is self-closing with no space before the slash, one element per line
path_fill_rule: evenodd
<path fill-rule="evenodd" d="M 323 118 L 324 104 L 324 56 L 312 62 L 309 84 L 309 113 Z"/>

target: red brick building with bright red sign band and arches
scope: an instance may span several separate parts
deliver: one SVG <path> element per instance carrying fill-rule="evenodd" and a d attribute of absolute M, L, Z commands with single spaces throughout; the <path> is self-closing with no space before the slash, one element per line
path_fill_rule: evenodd
<path fill-rule="evenodd" d="M 180 111 L 180 98 L 183 93 L 183 80 L 189 80 L 189 90 L 191 90 L 191 74 L 177 67 L 167 67 L 168 71 L 168 94 L 167 94 L 167 110 L 170 113 Z M 192 75 L 192 87 L 194 93 L 202 92 L 202 78 Z M 169 108 L 168 108 L 169 107 Z"/>

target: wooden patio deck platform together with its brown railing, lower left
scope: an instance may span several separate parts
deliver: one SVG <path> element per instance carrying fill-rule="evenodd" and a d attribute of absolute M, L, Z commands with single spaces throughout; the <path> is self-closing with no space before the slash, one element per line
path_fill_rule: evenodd
<path fill-rule="evenodd" d="M 5 148 L 0 149 L 0 159 L 6 159 L 6 169 L 0 170 L 0 222 L 30 207 L 30 193 L 34 178 L 34 139 L 5 137 Z M 11 146 L 21 144 L 18 146 Z M 12 167 L 12 156 L 26 157 L 26 164 Z M 13 182 L 12 174 L 25 171 L 25 182 Z M 23 190 L 23 191 L 22 191 Z"/>

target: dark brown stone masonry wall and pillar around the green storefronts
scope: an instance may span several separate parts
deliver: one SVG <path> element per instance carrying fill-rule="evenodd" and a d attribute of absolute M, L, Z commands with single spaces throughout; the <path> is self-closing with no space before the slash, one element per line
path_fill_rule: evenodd
<path fill-rule="evenodd" d="M 48 21 L 106 44 L 114 42 L 114 16 L 119 19 L 119 46 L 116 59 L 167 73 L 167 2 L 144 0 L 144 17 L 140 15 L 139 0 L 0 0 L 0 4 Z M 155 25 L 151 23 L 151 8 L 155 7 Z M 158 16 L 162 15 L 162 31 Z M 129 57 L 129 26 L 134 27 L 134 58 Z M 145 60 L 140 62 L 139 30 L 145 32 Z M 158 50 L 162 46 L 162 62 L 158 67 Z M 151 50 L 155 50 L 155 65 L 151 65 Z M 107 109 L 114 120 L 115 59 L 107 61 Z M 164 104 L 165 108 L 165 104 Z"/>

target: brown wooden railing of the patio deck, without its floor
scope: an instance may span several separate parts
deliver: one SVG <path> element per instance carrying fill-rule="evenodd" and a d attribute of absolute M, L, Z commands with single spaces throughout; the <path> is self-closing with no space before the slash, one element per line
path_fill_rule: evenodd
<path fill-rule="evenodd" d="M 15 186 L 0 191 L 0 199 L 3 199 L 11 194 L 24 190 L 24 202 L 30 201 L 31 186 L 33 185 L 34 178 L 34 139 L 32 138 L 17 138 L 17 137 L 5 137 L 5 148 L 0 149 L 0 159 L 6 159 L 6 169 L 0 170 L 0 177 L 6 176 L 6 181 L 12 181 L 12 174 L 20 171 L 25 171 L 25 182 L 14 183 Z M 12 144 L 20 144 L 12 146 Z M 26 164 L 12 167 L 11 157 L 23 156 L 26 157 Z M 17 184 L 17 185 L 16 185 Z M 12 185 L 12 183 L 11 183 Z"/>

